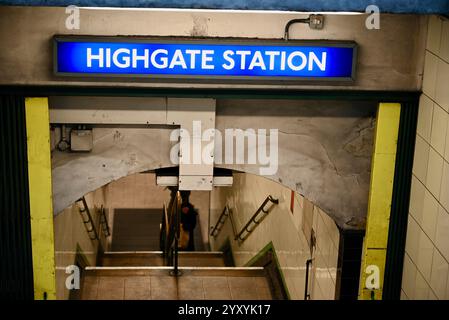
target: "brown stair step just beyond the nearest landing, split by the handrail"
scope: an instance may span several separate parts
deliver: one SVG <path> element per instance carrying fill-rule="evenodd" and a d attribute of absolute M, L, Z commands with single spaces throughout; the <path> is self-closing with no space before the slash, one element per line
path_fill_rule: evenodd
<path fill-rule="evenodd" d="M 224 267 L 223 253 L 213 252 L 179 252 L 179 265 L 185 267 Z M 141 267 L 164 266 L 161 251 L 123 251 L 105 252 L 101 260 L 102 266 Z"/>

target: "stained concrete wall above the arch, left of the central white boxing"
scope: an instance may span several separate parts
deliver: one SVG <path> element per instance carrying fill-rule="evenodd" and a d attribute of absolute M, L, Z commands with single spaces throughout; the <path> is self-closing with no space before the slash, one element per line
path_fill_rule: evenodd
<path fill-rule="evenodd" d="M 159 128 L 95 128 L 92 152 L 53 150 L 55 214 L 82 195 L 111 181 L 149 169 L 172 166 L 170 132 Z M 68 181 L 70 188 L 67 188 Z"/>

